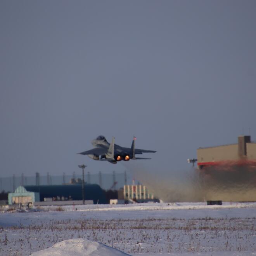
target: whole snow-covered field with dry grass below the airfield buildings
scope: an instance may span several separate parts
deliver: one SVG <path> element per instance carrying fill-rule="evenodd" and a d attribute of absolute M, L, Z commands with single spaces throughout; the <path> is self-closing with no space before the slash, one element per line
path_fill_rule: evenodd
<path fill-rule="evenodd" d="M 75 241 L 80 251 L 69 253 Z M 256 203 L 44 206 L 0 213 L 0 255 L 49 247 L 40 255 L 57 255 L 56 248 L 89 255 L 87 247 L 95 249 L 90 255 L 107 255 L 101 250 L 111 248 L 102 244 L 132 255 L 256 255 Z"/>

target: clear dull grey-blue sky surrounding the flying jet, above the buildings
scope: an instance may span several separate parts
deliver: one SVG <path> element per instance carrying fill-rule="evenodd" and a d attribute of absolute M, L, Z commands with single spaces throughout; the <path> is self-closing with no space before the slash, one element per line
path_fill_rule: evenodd
<path fill-rule="evenodd" d="M 254 0 L 0 1 L 0 176 L 134 166 L 76 155 L 98 135 L 135 135 L 157 171 L 256 140 L 255 13 Z"/>

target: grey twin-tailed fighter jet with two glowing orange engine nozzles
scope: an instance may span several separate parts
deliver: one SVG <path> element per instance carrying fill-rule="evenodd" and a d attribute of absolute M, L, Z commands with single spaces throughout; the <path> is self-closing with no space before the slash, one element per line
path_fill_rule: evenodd
<path fill-rule="evenodd" d="M 154 150 L 145 150 L 145 149 L 135 149 L 135 140 L 133 137 L 133 141 L 131 147 L 121 147 L 115 144 L 115 138 L 112 137 L 112 142 L 109 144 L 106 138 L 102 135 L 98 136 L 96 139 L 92 140 L 92 145 L 95 147 L 94 149 L 90 149 L 78 154 L 87 155 L 93 160 L 98 161 L 108 161 L 109 163 L 116 164 L 119 161 L 129 161 L 130 159 L 151 159 L 144 157 L 135 157 L 135 154 L 142 153 L 155 153 Z"/>

